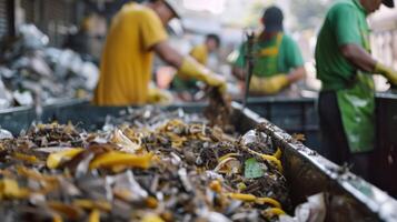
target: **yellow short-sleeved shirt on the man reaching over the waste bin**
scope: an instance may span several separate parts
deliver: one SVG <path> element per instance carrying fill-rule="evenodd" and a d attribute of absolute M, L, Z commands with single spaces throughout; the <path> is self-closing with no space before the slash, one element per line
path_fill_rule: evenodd
<path fill-rule="evenodd" d="M 106 40 L 93 103 L 146 103 L 152 47 L 166 39 L 165 27 L 153 10 L 133 2 L 125 4 L 113 18 Z"/>

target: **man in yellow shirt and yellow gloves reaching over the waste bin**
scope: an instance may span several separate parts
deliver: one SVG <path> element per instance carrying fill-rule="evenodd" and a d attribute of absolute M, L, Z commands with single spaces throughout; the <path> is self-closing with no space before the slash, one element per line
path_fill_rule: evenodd
<path fill-rule="evenodd" d="M 112 20 L 100 65 L 100 79 L 93 103 L 131 105 L 168 101 L 169 97 L 150 88 L 153 52 L 178 70 L 225 91 L 224 78 L 190 57 L 181 57 L 167 42 L 165 27 L 179 18 L 173 0 L 148 0 L 125 4 Z"/>

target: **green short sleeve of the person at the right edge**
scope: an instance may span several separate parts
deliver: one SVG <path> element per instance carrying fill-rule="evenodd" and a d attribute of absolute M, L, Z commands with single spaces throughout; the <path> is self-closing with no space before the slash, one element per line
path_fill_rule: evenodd
<path fill-rule="evenodd" d="M 358 27 L 357 9 L 348 3 L 335 6 L 329 13 L 329 20 L 339 47 L 349 43 L 361 44 Z"/>

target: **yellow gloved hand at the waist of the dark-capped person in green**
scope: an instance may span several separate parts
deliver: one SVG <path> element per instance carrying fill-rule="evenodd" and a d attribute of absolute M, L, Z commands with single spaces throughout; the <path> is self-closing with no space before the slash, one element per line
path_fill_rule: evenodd
<path fill-rule="evenodd" d="M 249 91 L 255 94 L 276 94 L 289 84 L 286 74 L 260 78 L 252 75 Z"/>

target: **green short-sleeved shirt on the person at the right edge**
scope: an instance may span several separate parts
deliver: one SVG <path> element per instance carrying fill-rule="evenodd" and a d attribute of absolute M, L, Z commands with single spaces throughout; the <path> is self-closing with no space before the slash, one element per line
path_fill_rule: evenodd
<path fill-rule="evenodd" d="M 322 90 L 345 89 L 357 73 L 340 47 L 357 44 L 370 51 L 367 12 L 358 0 L 341 0 L 327 12 L 316 47 L 317 78 Z"/>

